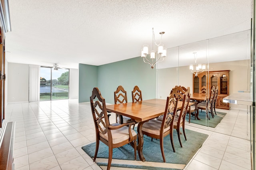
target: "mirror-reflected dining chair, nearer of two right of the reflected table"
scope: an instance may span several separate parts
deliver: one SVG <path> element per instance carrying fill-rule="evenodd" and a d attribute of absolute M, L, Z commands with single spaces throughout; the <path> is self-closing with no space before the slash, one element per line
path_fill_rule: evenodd
<path fill-rule="evenodd" d="M 197 108 L 206 111 L 206 116 L 210 120 L 210 116 L 208 115 L 208 111 L 210 111 L 212 118 L 214 118 L 213 114 L 213 100 L 215 96 L 215 86 L 212 86 L 210 91 L 210 98 L 206 100 L 206 102 L 198 103 Z"/>

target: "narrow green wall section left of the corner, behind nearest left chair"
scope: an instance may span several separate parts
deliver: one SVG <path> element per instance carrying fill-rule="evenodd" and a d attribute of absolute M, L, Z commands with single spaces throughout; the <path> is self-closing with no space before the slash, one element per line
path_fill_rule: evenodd
<path fill-rule="evenodd" d="M 78 103 L 89 102 L 92 89 L 98 85 L 98 66 L 79 64 Z"/>

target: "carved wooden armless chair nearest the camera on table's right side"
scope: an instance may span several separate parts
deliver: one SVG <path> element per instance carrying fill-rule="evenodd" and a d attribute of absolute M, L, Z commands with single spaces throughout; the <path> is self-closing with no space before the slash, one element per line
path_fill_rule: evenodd
<path fill-rule="evenodd" d="M 166 162 L 164 155 L 164 137 L 170 135 L 173 152 L 175 152 L 173 143 L 173 123 L 176 116 L 176 109 L 178 103 L 177 93 L 170 94 L 166 100 L 166 107 L 164 111 L 163 121 L 152 119 L 142 125 L 142 134 L 150 136 L 151 138 L 160 139 L 160 149 L 164 162 Z"/>

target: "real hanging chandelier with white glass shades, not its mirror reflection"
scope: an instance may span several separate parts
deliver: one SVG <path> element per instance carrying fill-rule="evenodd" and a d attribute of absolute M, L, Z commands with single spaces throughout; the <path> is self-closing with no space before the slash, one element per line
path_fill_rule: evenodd
<path fill-rule="evenodd" d="M 141 49 L 141 57 L 143 57 L 144 63 L 150 64 L 152 69 L 154 68 L 156 63 L 160 63 L 160 62 L 164 61 L 164 57 L 166 57 L 167 49 L 164 47 L 164 44 L 162 44 L 162 36 L 163 36 L 164 32 L 160 32 L 159 34 L 161 34 L 161 41 L 159 44 L 157 44 L 156 40 L 155 40 L 154 28 L 152 28 L 152 51 L 150 51 L 150 59 L 152 61 L 149 61 L 147 59 L 148 45 L 144 44 Z M 154 51 L 154 43 L 156 46 L 158 46 L 158 51 Z M 162 57 L 162 60 L 159 61 L 161 57 Z M 145 59 L 146 59 L 146 61 L 145 61 Z"/>

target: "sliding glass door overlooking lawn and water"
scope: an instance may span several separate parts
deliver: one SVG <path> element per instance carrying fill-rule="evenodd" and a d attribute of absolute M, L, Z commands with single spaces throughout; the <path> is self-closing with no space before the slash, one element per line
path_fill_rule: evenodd
<path fill-rule="evenodd" d="M 40 101 L 69 99 L 69 69 L 40 68 Z"/>

